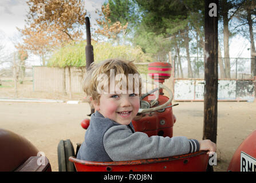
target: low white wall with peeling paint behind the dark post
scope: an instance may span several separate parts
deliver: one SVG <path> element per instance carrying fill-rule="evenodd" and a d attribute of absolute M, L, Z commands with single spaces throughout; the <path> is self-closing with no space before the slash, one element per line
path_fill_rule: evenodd
<path fill-rule="evenodd" d="M 204 79 L 175 79 L 175 101 L 203 101 Z M 219 79 L 218 100 L 254 101 L 253 79 Z"/>

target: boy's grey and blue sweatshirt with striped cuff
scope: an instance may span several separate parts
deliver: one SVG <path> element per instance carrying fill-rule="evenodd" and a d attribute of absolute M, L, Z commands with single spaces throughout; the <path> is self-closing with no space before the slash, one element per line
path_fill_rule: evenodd
<path fill-rule="evenodd" d="M 148 137 L 143 132 L 135 132 L 132 123 L 121 125 L 96 111 L 90 118 L 77 158 L 86 161 L 128 161 L 176 156 L 198 150 L 197 140 Z"/>

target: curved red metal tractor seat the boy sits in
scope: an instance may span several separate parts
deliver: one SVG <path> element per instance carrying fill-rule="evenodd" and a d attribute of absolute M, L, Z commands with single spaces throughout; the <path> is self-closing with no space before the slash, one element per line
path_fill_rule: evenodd
<path fill-rule="evenodd" d="M 74 163 L 77 172 L 204 172 L 208 154 L 199 151 L 166 158 L 112 162 L 85 161 L 70 156 L 69 161 Z"/>

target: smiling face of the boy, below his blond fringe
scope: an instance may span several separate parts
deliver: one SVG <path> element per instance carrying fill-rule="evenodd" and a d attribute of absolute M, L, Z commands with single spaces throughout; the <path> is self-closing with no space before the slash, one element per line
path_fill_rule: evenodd
<path fill-rule="evenodd" d="M 94 109 L 105 118 L 121 125 L 128 125 L 136 117 L 140 108 L 138 94 L 101 94 L 100 104 L 93 102 Z"/>

